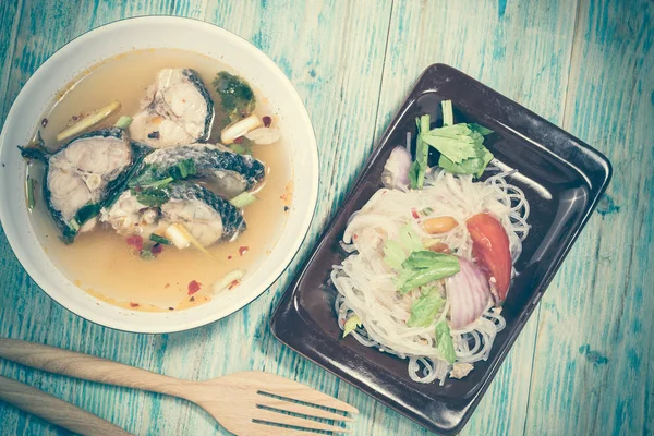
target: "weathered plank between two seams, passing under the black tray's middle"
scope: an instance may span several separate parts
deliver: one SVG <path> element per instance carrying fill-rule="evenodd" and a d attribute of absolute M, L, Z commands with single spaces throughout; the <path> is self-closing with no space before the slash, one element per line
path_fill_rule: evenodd
<path fill-rule="evenodd" d="M 560 124 L 574 29 L 574 2 L 395 2 L 377 112 L 377 137 L 422 71 L 441 62 Z M 537 313 L 463 434 L 522 434 Z M 388 420 L 368 434 L 423 434 L 382 404 Z M 501 410 L 501 413 L 498 413 Z M 388 425 L 388 426 L 386 426 Z"/>

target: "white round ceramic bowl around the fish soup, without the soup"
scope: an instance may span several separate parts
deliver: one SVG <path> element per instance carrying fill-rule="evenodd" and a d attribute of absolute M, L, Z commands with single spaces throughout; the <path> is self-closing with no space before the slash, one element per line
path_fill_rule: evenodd
<path fill-rule="evenodd" d="M 284 231 L 261 267 L 238 292 L 179 312 L 133 312 L 106 304 L 74 286 L 50 262 L 29 225 L 25 206 L 25 162 L 16 145 L 29 142 L 36 123 L 57 92 L 85 69 L 134 49 L 177 48 L 199 52 L 233 66 L 268 97 L 290 147 L 294 198 Z M 289 122 L 292 120 L 292 122 Z M 306 109 L 281 70 L 256 47 L 215 25 L 181 17 L 145 16 L 114 22 L 72 40 L 27 81 L 0 135 L 0 219 L 29 276 L 58 303 L 104 326 L 135 332 L 170 332 L 220 319 L 257 298 L 289 265 L 308 230 L 318 193 L 318 154 Z M 99 303 L 99 304 L 98 304 Z"/>

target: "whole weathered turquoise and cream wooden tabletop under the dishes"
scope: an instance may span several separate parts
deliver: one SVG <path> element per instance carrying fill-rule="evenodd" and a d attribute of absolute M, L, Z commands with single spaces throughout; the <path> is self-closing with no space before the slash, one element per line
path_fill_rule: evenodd
<path fill-rule="evenodd" d="M 29 279 L 0 235 L 0 336 L 189 379 L 270 371 L 350 402 L 355 435 L 422 427 L 281 346 L 272 307 L 422 70 L 463 70 L 604 153 L 614 179 L 465 435 L 654 433 L 654 3 L 498 1 L 0 1 L 0 122 L 48 56 L 126 16 L 174 14 L 226 27 L 291 78 L 314 122 L 322 190 L 310 238 L 259 299 L 209 326 L 133 335 L 86 322 Z M 0 362 L 0 374 L 140 435 L 226 432 L 168 397 Z M 0 403 L 2 434 L 62 434 Z"/>

